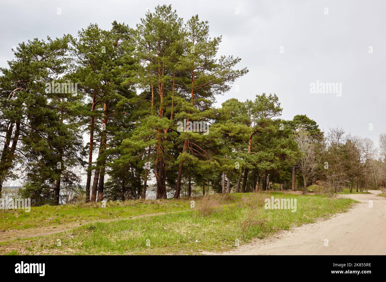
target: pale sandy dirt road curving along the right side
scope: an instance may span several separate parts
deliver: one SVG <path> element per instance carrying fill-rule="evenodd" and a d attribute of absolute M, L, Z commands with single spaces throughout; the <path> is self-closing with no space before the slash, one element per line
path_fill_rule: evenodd
<path fill-rule="evenodd" d="M 224 253 L 208 255 L 386 255 L 386 198 L 342 195 L 360 201 L 347 213 L 282 231 Z M 369 207 L 372 201 L 373 207 Z M 325 246 L 325 239 L 328 246 Z"/>

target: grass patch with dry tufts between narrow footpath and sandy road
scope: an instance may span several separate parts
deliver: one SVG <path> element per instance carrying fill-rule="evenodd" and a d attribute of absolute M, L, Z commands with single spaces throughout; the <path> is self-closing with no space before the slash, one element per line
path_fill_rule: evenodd
<path fill-rule="evenodd" d="M 264 199 L 271 196 L 296 199 L 296 212 L 265 209 Z M 184 208 L 190 204 L 190 201 L 170 201 L 174 205 L 179 202 Z M 345 198 L 279 192 L 214 195 L 196 199 L 195 207 L 189 211 L 90 223 L 54 235 L 0 242 L 0 254 L 198 254 L 224 251 L 235 247 L 237 242 L 241 245 L 252 238 L 264 238 L 279 230 L 345 212 L 354 202 Z"/>

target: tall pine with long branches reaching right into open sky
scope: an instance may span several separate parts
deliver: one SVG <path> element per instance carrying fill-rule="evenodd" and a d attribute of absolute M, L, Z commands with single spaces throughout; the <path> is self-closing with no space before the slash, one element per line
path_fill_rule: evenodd
<path fill-rule="evenodd" d="M 214 96 L 228 91 L 235 79 L 247 73 L 246 68 L 233 69 L 240 61 L 239 58 L 221 56 L 220 59 L 216 59 L 220 42 L 221 37 L 214 39 L 209 37 L 208 22 L 200 21 L 198 15 L 193 16 L 186 23 L 185 53 L 178 65 L 181 72 L 186 73 L 187 101 L 178 117 L 181 120 L 186 119 L 187 124 L 190 121 L 207 121 L 211 114 L 208 106 L 214 100 Z M 184 131 L 187 131 L 185 129 Z M 183 164 L 188 157 L 188 152 L 201 150 L 199 146 L 195 145 L 194 137 L 196 135 L 191 132 L 181 133 L 183 149 L 178 157 L 178 176 L 174 198 L 179 198 Z"/>

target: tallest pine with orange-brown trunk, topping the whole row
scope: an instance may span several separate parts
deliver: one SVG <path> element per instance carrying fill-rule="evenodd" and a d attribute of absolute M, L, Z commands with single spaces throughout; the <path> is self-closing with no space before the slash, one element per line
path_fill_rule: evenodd
<path fill-rule="evenodd" d="M 143 150 L 146 152 L 141 155 L 145 156 L 147 164 L 154 163 L 157 199 L 167 197 L 167 167 L 171 163 L 168 152 L 169 130 L 176 113 L 176 81 L 180 75 L 176 63 L 182 52 L 181 27 L 182 19 L 178 18 L 170 5 L 157 6 L 154 13 L 147 12 L 146 17 L 141 19 L 141 24 L 137 25 L 137 55 L 143 63 L 140 86 L 145 89 L 143 96 L 151 100 L 149 116 L 145 117 L 151 122 L 142 123 L 151 127 L 142 128 L 150 135 L 144 143 Z M 145 181 L 148 167 L 145 170 Z"/>

